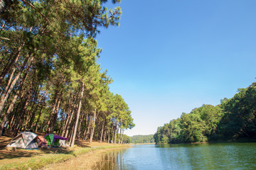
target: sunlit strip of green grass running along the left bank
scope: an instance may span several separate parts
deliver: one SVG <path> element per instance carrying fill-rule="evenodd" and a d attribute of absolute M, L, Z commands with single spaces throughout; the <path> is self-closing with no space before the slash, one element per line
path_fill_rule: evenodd
<path fill-rule="evenodd" d="M 118 148 L 118 147 L 124 147 L 124 145 L 119 146 L 106 146 L 106 147 L 87 147 L 78 149 L 72 152 L 66 152 L 64 154 L 48 154 L 44 155 L 42 157 L 37 158 L 31 158 L 28 160 L 28 162 L 20 162 L 20 163 L 11 163 L 11 164 L 4 164 L 0 166 L 1 170 L 5 169 L 42 169 L 43 166 L 46 166 L 48 164 L 55 164 L 58 162 L 64 162 L 68 159 L 73 159 L 75 157 L 78 157 L 81 154 L 86 154 L 87 152 L 91 152 L 93 150 L 98 149 L 110 149 L 110 148 Z"/>

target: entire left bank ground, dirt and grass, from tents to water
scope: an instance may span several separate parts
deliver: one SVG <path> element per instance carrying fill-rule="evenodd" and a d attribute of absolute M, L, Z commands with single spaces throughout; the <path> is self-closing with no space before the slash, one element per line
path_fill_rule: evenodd
<path fill-rule="evenodd" d="M 42 136 L 43 134 L 41 134 Z M 6 147 L 15 137 L 0 137 L 0 169 L 42 169 L 47 166 L 64 166 L 66 161 L 79 159 L 80 155 L 86 157 L 82 160 L 87 164 L 88 169 L 100 161 L 100 153 L 107 152 L 111 148 L 128 147 L 127 145 L 114 145 L 107 142 L 86 142 L 80 140 L 75 143 L 75 147 L 43 147 L 38 149 L 22 149 L 16 147 Z M 75 167 L 74 167 L 75 168 Z M 54 168 L 56 169 L 56 168 Z"/>

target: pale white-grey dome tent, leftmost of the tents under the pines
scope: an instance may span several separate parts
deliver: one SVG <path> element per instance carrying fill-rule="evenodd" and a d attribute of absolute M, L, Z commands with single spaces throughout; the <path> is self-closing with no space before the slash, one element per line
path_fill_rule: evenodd
<path fill-rule="evenodd" d="M 38 148 L 37 136 L 33 132 L 21 132 L 6 147 Z"/>

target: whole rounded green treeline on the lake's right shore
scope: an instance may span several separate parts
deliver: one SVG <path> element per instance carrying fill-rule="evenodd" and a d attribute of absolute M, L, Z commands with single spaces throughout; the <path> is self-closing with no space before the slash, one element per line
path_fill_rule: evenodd
<path fill-rule="evenodd" d="M 159 127 L 157 143 L 256 140 L 256 83 L 218 106 L 203 105 Z"/>

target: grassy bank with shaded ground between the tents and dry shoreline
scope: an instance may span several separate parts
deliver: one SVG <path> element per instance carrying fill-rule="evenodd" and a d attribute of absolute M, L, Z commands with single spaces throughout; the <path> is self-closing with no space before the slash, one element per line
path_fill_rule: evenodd
<path fill-rule="evenodd" d="M 53 148 L 26 150 L 17 149 L 16 151 L 7 151 L 1 149 L 0 169 L 43 169 L 49 164 L 64 162 L 69 159 L 75 159 L 82 154 L 94 152 L 100 149 L 113 149 L 129 147 L 129 145 L 114 145 L 100 142 L 83 142 L 75 145 L 74 148 Z M 3 156 L 4 155 L 4 156 Z"/>

